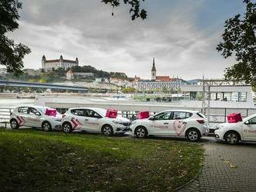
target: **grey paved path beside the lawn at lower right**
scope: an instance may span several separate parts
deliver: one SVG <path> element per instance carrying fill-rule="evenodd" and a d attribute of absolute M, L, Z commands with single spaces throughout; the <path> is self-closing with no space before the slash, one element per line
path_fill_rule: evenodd
<path fill-rule="evenodd" d="M 230 146 L 203 138 L 202 173 L 179 191 L 256 191 L 256 143 Z"/>

